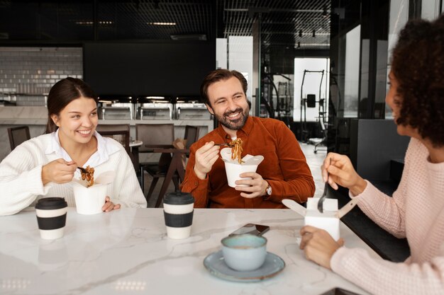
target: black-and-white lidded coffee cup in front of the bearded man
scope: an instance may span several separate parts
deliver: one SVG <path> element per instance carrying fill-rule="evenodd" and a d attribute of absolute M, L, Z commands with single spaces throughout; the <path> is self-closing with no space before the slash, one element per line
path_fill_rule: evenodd
<path fill-rule="evenodd" d="M 163 200 L 168 238 L 188 238 L 191 234 L 194 197 L 188 192 L 171 192 Z"/>

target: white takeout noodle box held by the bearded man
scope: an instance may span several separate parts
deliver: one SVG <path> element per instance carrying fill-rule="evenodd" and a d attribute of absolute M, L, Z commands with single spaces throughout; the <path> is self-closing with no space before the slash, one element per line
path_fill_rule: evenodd
<path fill-rule="evenodd" d="M 242 158 L 242 163 L 239 163 L 237 158 L 231 158 L 231 148 L 221 149 L 221 157 L 225 163 L 228 185 L 231 187 L 236 186 L 236 180 L 251 179 L 241 178 L 239 175 L 245 172 L 256 172 L 257 166 L 264 160 L 264 156 L 246 155 Z"/>

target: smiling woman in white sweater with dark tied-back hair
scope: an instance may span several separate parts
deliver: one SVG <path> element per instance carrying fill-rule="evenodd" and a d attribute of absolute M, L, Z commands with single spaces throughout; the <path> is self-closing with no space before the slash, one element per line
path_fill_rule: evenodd
<path fill-rule="evenodd" d="M 0 215 L 10 215 L 41 197 L 65 197 L 75 206 L 71 180 L 77 167 L 94 174 L 115 170 L 102 210 L 146 207 L 133 164 L 123 146 L 96 130 L 97 97 L 80 79 L 62 79 L 48 95 L 46 133 L 23 142 L 0 163 Z"/>

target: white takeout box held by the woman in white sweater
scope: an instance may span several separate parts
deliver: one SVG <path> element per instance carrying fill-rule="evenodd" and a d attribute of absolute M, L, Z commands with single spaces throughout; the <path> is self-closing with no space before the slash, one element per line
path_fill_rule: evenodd
<path fill-rule="evenodd" d="M 84 187 L 80 183 L 73 182 L 74 199 L 78 214 L 99 214 L 102 213 L 106 199 L 107 185 L 94 184 Z"/>

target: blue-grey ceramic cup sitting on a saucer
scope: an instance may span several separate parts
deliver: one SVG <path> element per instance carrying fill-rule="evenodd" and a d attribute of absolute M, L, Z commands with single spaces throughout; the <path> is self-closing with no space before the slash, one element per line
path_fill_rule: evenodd
<path fill-rule="evenodd" d="M 228 267 L 240 272 L 257 270 L 267 256 L 267 238 L 248 233 L 228 236 L 222 241 L 223 260 Z"/>

